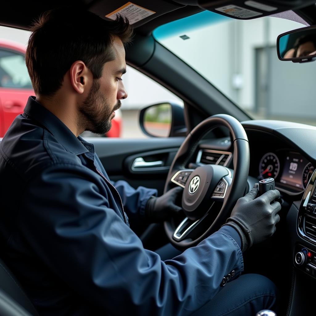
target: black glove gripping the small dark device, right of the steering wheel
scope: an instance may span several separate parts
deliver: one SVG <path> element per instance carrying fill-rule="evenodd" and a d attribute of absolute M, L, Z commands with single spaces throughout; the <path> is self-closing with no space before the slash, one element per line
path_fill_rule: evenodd
<path fill-rule="evenodd" d="M 257 195 L 256 183 L 250 192 L 237 201 L 224 224 L 234 227 L 239 233 L 242 252 L 272 236 L 276 231 L 276 223 L 280 220 L 277 212 L 281 210 L 281 204 L 273 202 L 280 197 L 280 192 L 270 190 L 256 198 Z"/>

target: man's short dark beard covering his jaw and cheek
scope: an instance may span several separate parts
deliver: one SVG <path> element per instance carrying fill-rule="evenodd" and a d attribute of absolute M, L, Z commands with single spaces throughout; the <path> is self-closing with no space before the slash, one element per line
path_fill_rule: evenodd
<path fill-rule="evenodd" d="M 95 134 L 104 135 L 111 127 L 112 112 L 121 107 L 121 101 L 118 100 L 113 109 L 107 103 L 107 99 L 99 91 L 100 82 L 93 80 L 92 87 L 87 98 L 79 107 L 79 126 L 85 131 L 91 131 Z"/>

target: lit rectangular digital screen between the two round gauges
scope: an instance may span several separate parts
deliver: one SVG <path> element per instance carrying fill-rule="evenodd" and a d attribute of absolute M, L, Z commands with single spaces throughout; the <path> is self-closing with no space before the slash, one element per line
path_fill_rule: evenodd
<path fill-rule="evenodd" d="M 300 154 L 289 152 L 285 155 L 281 183 L 304 189 L 302 174 L 308 161 Z"/>

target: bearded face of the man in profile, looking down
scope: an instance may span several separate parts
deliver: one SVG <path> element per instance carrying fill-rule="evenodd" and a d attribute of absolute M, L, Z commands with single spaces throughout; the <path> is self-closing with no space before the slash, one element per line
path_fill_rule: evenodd
<path fill-rule="evenodd" d="M 110 130 L 114 111 L 121 107 L 120 100 L 127 98 L 121 78 L 126 71 L 125 49 L 117 37 L 113 51 L 115 59 L 104 65 L 101 78 L 94 79 L 87 98 L 79 107 L 85 130 L 100 135 Z"/>

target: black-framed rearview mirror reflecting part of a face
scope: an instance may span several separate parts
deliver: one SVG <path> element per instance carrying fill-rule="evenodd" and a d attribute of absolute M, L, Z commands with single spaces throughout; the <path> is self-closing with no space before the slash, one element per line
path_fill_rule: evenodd
<path fill-rule="evenodd" d="M 304 63 L 316 59 L 316 26 L 299 28 L 277 37 L 277 55 L 280 60 Z"/>

